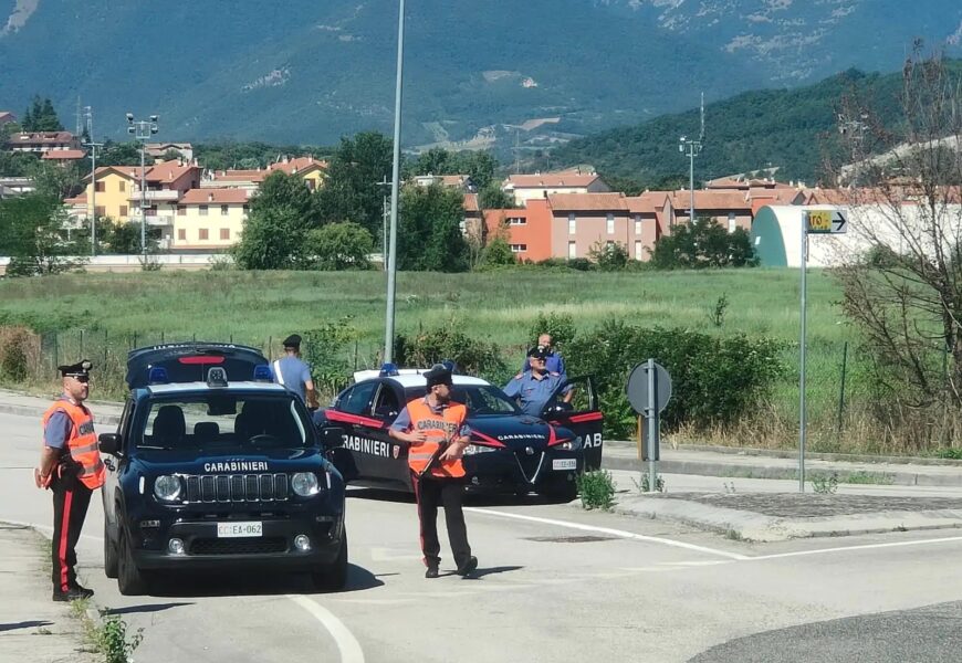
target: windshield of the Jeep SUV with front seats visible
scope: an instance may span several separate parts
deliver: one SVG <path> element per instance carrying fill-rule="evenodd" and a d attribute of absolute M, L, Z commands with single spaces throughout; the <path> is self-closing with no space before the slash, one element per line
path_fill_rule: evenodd
<path fill-rule="evenodd" d="M 289 393 L 170 394 L 145 404 L 133 431 L 139 449 L 292 449 L 313 443 L 303 406 Z"/>

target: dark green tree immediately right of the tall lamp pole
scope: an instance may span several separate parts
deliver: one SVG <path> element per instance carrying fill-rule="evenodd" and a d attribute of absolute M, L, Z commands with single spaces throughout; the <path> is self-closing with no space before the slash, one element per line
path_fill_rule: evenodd
<path fill-rule="evenodd" d="M 461 232 L 464 197 L 439 186 L 404 191 L 398 233 L 398 269 L 431 272 L 468 270 L 468 242 Z"/>

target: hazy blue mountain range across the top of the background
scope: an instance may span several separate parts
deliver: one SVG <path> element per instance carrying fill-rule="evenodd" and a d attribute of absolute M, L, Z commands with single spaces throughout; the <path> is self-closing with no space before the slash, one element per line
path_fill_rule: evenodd
<path fill-rule="evenodd" d="M 50 96 L 96 137 L 332 144 L 390 133 L 397 0 L 0 0 L 0 109 Z M 541 149 L 849 67 L 917 38 L 962 53 L 958 0 L 408 0 L 406 148 Z"/>

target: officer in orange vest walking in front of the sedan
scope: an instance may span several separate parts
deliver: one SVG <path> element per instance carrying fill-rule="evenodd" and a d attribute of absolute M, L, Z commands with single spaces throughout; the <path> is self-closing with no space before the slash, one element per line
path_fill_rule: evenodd
<path fill-rule="evenodd" d="M 438 541 L 438 504 L 445 506 L 448 539 L 454 555 L 457 573 L 468 576 L 478 568 L 471 555 L 468 529 L 461 508 L 464 494 L 464 466 L 461 456 L 471 431 L 464 423 L 467 409 L 451 402 L 451 369 L 440 364 L 425 373 L 425 398 L 410 401 L 390 428 L 390 436 L 410 444 L 408 465 L 418 502 L 421 551 L 428 570 L 425 578 L 437 578 L 441 544 Z"/>

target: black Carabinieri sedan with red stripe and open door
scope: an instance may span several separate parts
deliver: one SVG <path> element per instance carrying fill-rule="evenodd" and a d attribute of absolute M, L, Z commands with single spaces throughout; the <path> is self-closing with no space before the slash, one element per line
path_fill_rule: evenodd
<path fill-rule="evenodd" d="M 323 421 L 345 429 L 344 446 L 357 472 L 353 484 L 412 491 L 407 446 L 388 429 L 405 403 L 425 396 L 421 372 L 358 371 L 356 382 L 323 412 Z M 563 398 L 567 391 L 574 397 L 569 403 Z M 452 399 L 468 408 L 471 444 L 463 462 L 470 491 L 569 499 L 577 494 L 577 474 L 602 464 L 602 412 L 590 378 L 560 387 L 540 418 L 524 414 L 480 378 L 453 376 Z"/>

